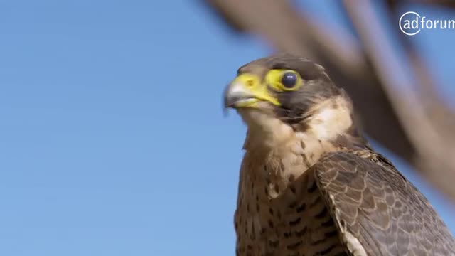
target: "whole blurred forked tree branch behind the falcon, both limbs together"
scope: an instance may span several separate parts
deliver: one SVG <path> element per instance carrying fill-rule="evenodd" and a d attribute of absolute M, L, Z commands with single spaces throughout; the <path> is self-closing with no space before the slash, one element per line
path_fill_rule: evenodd
<path fill-rule="evenodd" d="M 414 2 L 455 7 L 453 1 Z M 254 33 L 277 50 L 325 66 L 353 98 L 365 132 L 455 200 L 451 184 L 455 181 L 455 112 L 444 105 L 424 61 L 401 34 L 395 33 L 394 38 L 402 44 L 412 72 L 405 73 L 405 79 L 390 73 L 390 65 L 403 62 L 393 53 L 390 36 L 385 35 L 370 1 L 345 0 L 341 5 L 358 39 L 296 11 L 291 1 L 205 3 L 235 31 Z M 396 16 L 397 5 L 387 1 L 390 17 Z"/>

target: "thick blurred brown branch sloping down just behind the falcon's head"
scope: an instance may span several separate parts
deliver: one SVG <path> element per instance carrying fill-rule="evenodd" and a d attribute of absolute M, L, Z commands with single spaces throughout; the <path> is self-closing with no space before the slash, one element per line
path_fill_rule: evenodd
<path fill-rule="evenodd" d="M 440 156 L 437 154 L 441 150 L 429 152 L 430 148 L 434 149 L 434 145 L 437 145 L 435 142 L 440 141 L 439 134 L 428 125 L 428 116 L 422 114 L 424 112 L 421 109 L 417 107 L 417 113 L 414 113 L 415 105 L 419 105 L 417 96 L 400 104 L 402 97 L 397 95 L 402 94 L 396 92 L 396 87 L 393 86 L 397 80 L 389 76 L 390 72 L 384 68 L 388 63 L 384 63 L 378 54 L 381 53 L 378 51 L 380 44 L 372 42 L 372 35 L 360 27 L 362 19 L 357 17 L 359 14 L 355 10 L 350 10 L 350 16 L 355 19 L 353 23 L 356 24 L 356 29 L 362 32 L 359 35 L 362 43 L 365 43 L 364 47 L 368 48 L 368 55 L 365 55 L 363 47 L 354 38 L 329 31 L 326 26 L 314 22 L 307 15 L 302 16 L 292 8 L 289 1 L 205 2 L 217 11 L 222 10 L 219 12 L 222 18 L 238 31 L 255 33 L 267 39 L 278 50 L 304 55 L 324 65 L 333 80 L 346 88 L 353 97 L 368 135 L 417 167 L 429 181 L 455 198 L 455 189 L 449 187 L 449 182 L 441 181 L 444 178 L 437 177 L 441 174 L 453 176 L 455 166 L 448 163 L 445 157 L 451 153 L 448 157 L 451 159 L 455 152 L 447 151 Z M 419 127 L 422 123 L 424 127 Z M 416 132 L 417 128 L 426 134 Z M 433 146 L 425 149 L 429 144 Z"/>

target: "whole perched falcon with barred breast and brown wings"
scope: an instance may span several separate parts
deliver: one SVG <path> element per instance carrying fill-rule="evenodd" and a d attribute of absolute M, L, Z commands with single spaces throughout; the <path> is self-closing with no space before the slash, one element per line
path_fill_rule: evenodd
<path fill-rule="evenodd" d="M 449 229 L 370 147 L 321 65 L 289 54 L 254 60 L 224 104 L 247 125 L 236 255 L 455 255 Z"/>

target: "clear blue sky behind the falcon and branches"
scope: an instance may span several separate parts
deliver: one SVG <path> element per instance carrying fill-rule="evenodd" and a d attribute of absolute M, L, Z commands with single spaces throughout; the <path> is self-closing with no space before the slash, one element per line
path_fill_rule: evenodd
<path fill-rule="evenodd" d="M 415 40 L 453 99 L 454 33 Z M 234 255 L 245 127 L 221 94 L 268 53 L 193 1 L 2 1 L 0 255 Z"/>

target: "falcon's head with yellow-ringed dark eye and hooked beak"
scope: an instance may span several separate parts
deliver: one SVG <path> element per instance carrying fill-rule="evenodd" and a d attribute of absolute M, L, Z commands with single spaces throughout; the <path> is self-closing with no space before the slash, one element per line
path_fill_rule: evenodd
<path fill-rule="evenodd" d="M 357 134 L 346 92 L 321 65 L 294 55 L 242 65 L 225 89 L 224 104 L 236 109 L 247 124 L 247 137 L 269 146 L 297 133 L 319 141 Z"/>

